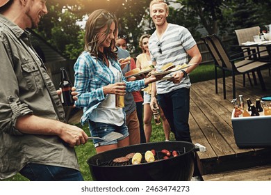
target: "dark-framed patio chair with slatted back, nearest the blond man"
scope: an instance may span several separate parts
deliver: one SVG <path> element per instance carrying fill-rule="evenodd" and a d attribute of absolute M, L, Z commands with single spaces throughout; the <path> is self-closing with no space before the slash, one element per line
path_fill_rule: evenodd
<path fill-rule="evenodd" d="M 265 65 L 269 65 L 270 62 L 254 61 L 251 59 L 254 56 L 254 54 L 250 54 L 242 58 L 238 57 L 236 59 L 233 59 L 234 56 L 238 56 L 239 54 L 229 56 L 228 52 L 226 51 L 224 47 L 224 44 L 222 43 L 220 38 L 218 38 L 215 34 L 211 36 L 206 36 L 205 38 L 202 38 L 202 40 L 204 40 L 209 51 L 211 52 L 213 56 L 213 59 L 215 61 L 215 67 L 222 69 L 224 99 L 226 99 L 226 87 L 225 87 L 225 78 L 224 78 L 225 71 L 231 72 L 232 85 L 233 85 L 233 98 L 236 98 L 235 75 L 238 75 L 238 74 L 243 74 L 243 86 L 245 86 L 245 74 L 256 71 L 258 75 L 258 79 L 261 83 L 261 87 L 263 91 L 265 91 L 265 83 L 261 75 L 261 68 L 265 67 Z M 246 59 L 246 58 L 249 58 L 249 59 Z M 216 86 L 216 90 L 217 90 L 217 86 Z"/>

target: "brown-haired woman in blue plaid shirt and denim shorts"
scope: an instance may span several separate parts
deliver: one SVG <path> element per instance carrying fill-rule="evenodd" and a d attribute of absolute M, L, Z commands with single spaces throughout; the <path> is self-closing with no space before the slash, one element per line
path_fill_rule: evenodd
<path fill-rule="evenodd" d="M 115 95 L 138 91 L 156 77 L 126 81 L 117 56 L 113 52 L 117 36 L 117 18 L 106 10 L 95 10 L 85 26 L 85 51 L 74 64 L 75 84 L 78 91 L 76 107 L 83 107 L 81 123 L 88 122 L 92 137 L 104 137 L 120 132 L 123 137 L 114 141 L 94 139 L 97 153 L 129 146 L 123 108 L 115 107 Z M 115 82 L 121 74 L 122 82 Z"/>

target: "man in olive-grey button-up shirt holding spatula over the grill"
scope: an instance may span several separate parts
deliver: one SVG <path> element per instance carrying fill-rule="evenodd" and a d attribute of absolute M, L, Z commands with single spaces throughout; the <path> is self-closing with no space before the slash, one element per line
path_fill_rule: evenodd
<path fill-rule="evenodd" d="M 26 31 L 47 14 L 45 3 L 0 0 L 0 179 L 19 172 L 29 180 L 83 180 L 74 146 L 88 135 L 64 123 L 54 84 Z"/>

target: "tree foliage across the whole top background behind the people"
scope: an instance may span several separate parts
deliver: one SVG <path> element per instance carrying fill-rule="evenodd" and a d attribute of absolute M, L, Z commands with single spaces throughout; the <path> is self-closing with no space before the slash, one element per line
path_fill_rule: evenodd
<path fill-rule="evenodd" d="M 79 25 L 92 11 L 104 8 L 115 13 L 119 29 L 129 35 L 131 45 L 138 48 L 142 33 L 153 33 L 155 27 L 149 17 L 151 0 L 50 0 L 48 15 L 40 22 L 38 33 L 69 59 L 76 59 L 83 51 L 84 29 Z M 167 21 L 186 26 L 199 40 L 199 29 L 220 36 L 233 34 L 234 29 L 270 23 L 271 0 L 172 0 L 178 8 L 170 7 Z M 138 49 L 138 50 L 137 50 Z M 133 51 L 132 51 L 133 52 Z"/>

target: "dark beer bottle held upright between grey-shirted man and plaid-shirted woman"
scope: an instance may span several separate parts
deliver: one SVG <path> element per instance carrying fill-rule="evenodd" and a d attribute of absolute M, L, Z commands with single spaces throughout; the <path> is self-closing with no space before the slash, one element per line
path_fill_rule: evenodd
<path fill-rule="evenodd" d="M 59 89 L 62 91 L 60 101 L 63 106 L 67 107 L 74 105 L 74 99 L 72 98 L 72 82 L 69 81 L 65 68 L 60 68 Z"/>

